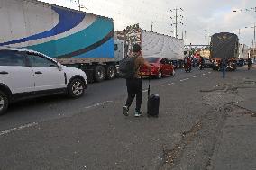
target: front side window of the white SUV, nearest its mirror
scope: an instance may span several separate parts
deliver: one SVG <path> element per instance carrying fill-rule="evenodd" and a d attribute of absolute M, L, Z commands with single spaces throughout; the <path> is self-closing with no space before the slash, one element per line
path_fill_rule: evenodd
<path fill-rule="evenodd" d="M 37 54 L 27 54 L 27 57 L 32 67 L 58 67 L 55 62 Z"/>

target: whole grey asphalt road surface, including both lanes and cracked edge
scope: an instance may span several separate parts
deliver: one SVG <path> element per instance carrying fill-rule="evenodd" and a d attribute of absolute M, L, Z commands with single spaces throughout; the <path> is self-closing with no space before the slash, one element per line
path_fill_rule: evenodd
<path fill-rule="evenodd" d="M 123 79 L 91 84 L 78 100 L 15 103 L 0 117 L 0 170 L 254 169 L 255 75 L 239 67 L 224 79 L 210 69 L 154 79 L 159 118 L 146 116 L 146 100 L 141 118 L 134 103 L 123 116 Z"/>

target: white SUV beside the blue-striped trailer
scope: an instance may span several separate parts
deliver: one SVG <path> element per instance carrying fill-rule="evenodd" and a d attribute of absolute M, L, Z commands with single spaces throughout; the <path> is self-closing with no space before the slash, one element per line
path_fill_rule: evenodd
<path fill-rule="evenodd" d="M 78 68 L 31 49 L 0 48 L 0 115 L 17 100 L 59 93 L 78 98 L 85 88 L 87 75 Z"/>

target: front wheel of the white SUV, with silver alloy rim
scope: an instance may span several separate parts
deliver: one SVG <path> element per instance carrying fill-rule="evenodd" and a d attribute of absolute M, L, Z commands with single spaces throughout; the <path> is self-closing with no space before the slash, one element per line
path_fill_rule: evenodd
<path fill-rule="evenodd" d="M 85 83 L 80 78 L 74 78 L 70 81 L 68 86 L 69 97 L 78 98 L 85 93 Z"/>

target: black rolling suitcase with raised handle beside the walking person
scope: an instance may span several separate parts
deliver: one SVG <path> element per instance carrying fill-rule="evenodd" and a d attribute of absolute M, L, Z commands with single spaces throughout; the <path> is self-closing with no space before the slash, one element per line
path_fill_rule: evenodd
<path fill-rule="evenodd" d="M 149 117 L 158 117 L 160 108 L 159 94 L 151 94 L 151 83 L 149 77 L 147 114 Z"/>

